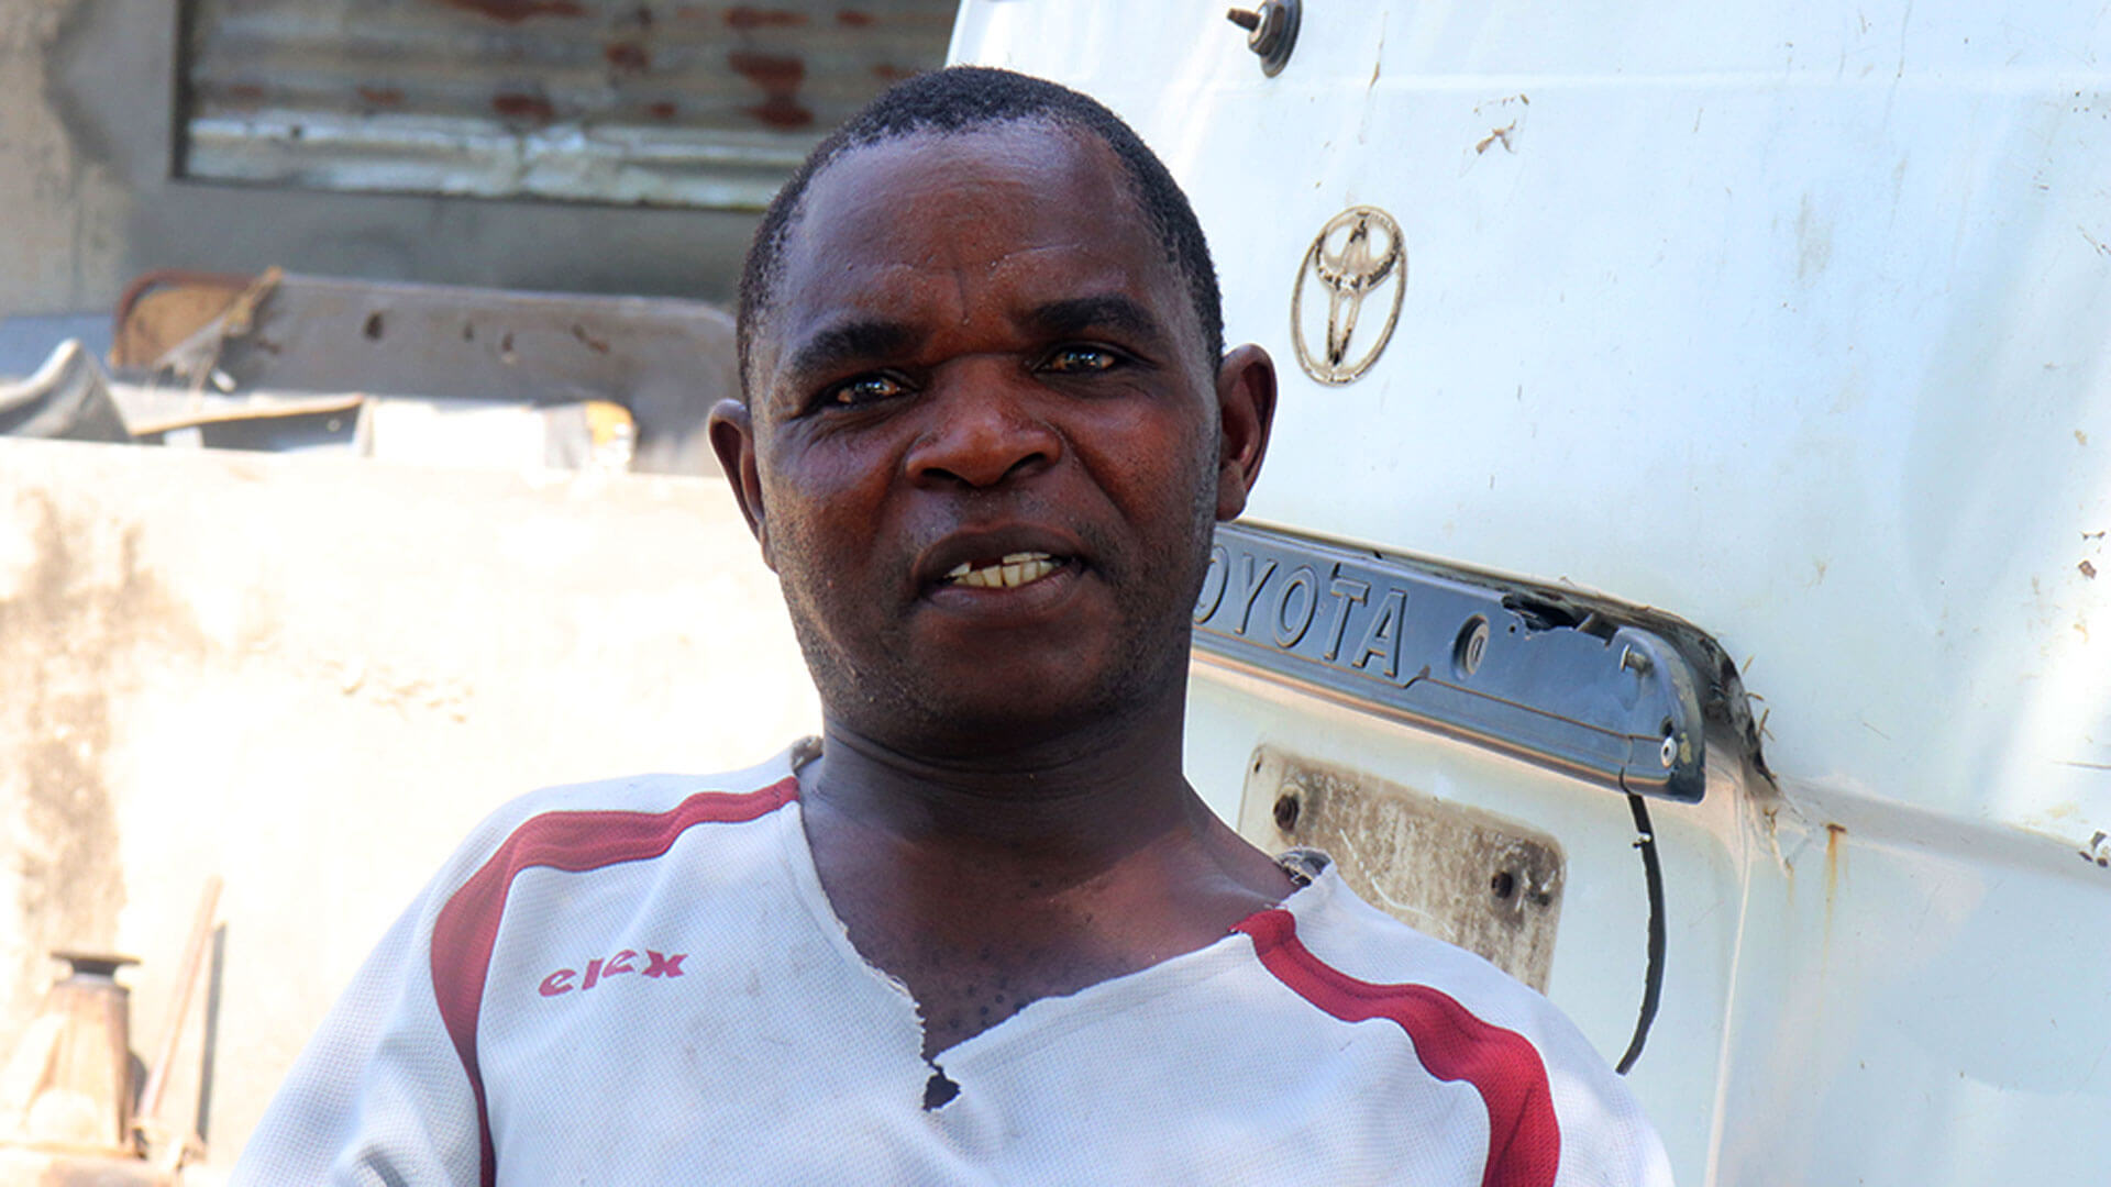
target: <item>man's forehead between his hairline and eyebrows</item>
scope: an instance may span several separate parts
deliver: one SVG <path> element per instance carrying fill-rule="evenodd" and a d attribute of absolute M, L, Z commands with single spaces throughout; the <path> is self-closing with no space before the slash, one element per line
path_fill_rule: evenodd
<path fill-rule="evenodd" d="M 1045 123 L 844 152 L 809 184 L 781 260 L 764 353 L 838 317 L 965 323 L 1096 291 L 1201 334 L 1121 161 L 1100 137 Z"/>

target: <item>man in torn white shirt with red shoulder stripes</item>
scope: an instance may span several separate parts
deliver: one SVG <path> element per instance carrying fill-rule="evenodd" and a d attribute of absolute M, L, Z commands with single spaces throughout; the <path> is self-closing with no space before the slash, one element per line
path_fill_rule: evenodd
<path fill-rule="evenodd" d="M 1239 841 L 1188 610 L 1275 376 L 1098 103 L 906 82 L 764 218 L 711 439 L 819 748 L 502 809 L 243 1183 L 1663 1183 L 1543 999 Z"/>

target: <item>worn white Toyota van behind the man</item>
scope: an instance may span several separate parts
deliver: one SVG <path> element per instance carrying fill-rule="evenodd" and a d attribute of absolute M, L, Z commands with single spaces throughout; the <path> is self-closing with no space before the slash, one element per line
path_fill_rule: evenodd
<path fill-rule="evenodd" d="M 1682 1183 L 2111 1183 L 2098 4 L 967 0 L 1281 370 L 1188 765 Z"/>

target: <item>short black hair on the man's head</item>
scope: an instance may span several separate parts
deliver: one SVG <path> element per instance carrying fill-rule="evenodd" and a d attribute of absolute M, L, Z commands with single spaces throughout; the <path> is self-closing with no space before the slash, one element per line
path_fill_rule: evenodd
<path fill-rule="evenodd" d="M 990 70 L 984 65 L 950 65 L 918 74 L 880 93 L 861 112 L 830 133 L 792 173 L 792 180 L 771 199 L 756 239 L 747 245 L 747 264 L 741 268 L 739 308 L 739 361 L 741 395 L 747 397 L 747 365 L 754 355 L 754 340 L 762 317 L 768 313 L 779 272 L 783 270 L 783 247 L 792 224 L 798 218 L 806 186 L 828 169 L 838 156 L 897 139 L 914 133 L 961 133 L 992 125 L 1041 120 L 1058 129 L 1072 129 L 1096 135 L 1121 161 L 1129 177 L 1136 205 L 1150 220 L 1153 232 L 1165 247 L 1165 262 L 1180 270 L 1186 281 L 1188 300 L 1195 302 L 1195 319 L 1201 323 L 1201 338 L 1210 372 L 1216 372 L 1224 355 L 1224 306 L 1216 287 L 1216 266 L 1210 262 L 1210 243 L 1201 234 L 1195 207 L 1188 205 L 1180 184 L 1165 169 L 1155 152 L 1136 131 L 1098 99 L 1081 95 L 1068 87 L 1032 78 L 1011 70 Z"/>

